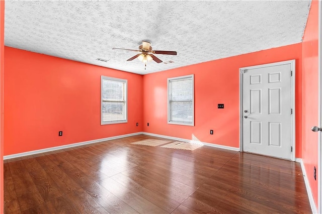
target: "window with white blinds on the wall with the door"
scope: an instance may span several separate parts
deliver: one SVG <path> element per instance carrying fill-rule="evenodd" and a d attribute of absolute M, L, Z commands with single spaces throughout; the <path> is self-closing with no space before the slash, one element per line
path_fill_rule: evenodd
<path fill-rule="evenodd" d="M 168 79 L 168 123 L 194 126 L 194 76 Z"/>

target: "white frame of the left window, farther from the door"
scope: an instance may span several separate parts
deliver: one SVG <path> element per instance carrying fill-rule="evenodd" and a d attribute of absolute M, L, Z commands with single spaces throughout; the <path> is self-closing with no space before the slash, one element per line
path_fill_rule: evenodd
<path fill-rule="evenodd" d="M 109 80 L 109 81 L 115 81 L 115 82 L 122 82 L 125 83 L 124 86 L 124 100 L 125 102 L 125 120 L 120 120 L 120 121 L 106 121 L 103 122 L 103 80 Z M 107 125 L 107 124 L 120 124 L 120 123 L 127 123 L 127 79 L 119 79 L 119 78 L 113 78 L 113 77 L 108 77 L 108 76 L 101 76 L 101 125 Z"/>

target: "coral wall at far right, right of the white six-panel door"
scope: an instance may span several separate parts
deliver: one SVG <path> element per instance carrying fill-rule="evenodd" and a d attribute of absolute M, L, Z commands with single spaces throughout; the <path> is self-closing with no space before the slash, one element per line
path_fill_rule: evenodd
<path fill-rule="evenodd" d="M 318 134 L 312 126 L 318 125 L 318 1 L 312 1 L 302 42 L 302 159 L 315 204 L 317 204 Z"/>

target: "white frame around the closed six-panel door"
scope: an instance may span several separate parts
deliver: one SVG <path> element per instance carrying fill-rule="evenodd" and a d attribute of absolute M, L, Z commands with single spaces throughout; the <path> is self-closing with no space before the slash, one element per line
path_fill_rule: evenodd
<path fill-rule="evenodd" d="M 263 65 L 255 65 L 249 66 L 244 68 L 239 68 L 239 151 L 243 152 L 243 74 L 245 70 L 248 69 L 255 69 L 255 68 L 263 68 L 263 67 L 270 67 L 270 66 L 277 66 L 277 65 L 285 65 L 291 64 L 292 70 L 292 77 L 291 78 L 291 108 L 293 109 L 293 114 L 291 116 L 291 146 L 293 148 L 293 152 L 291 154 L 291 160 L 295 161 L 295 59 L 282 61 L 282 62 L 275 62 Z"/>

